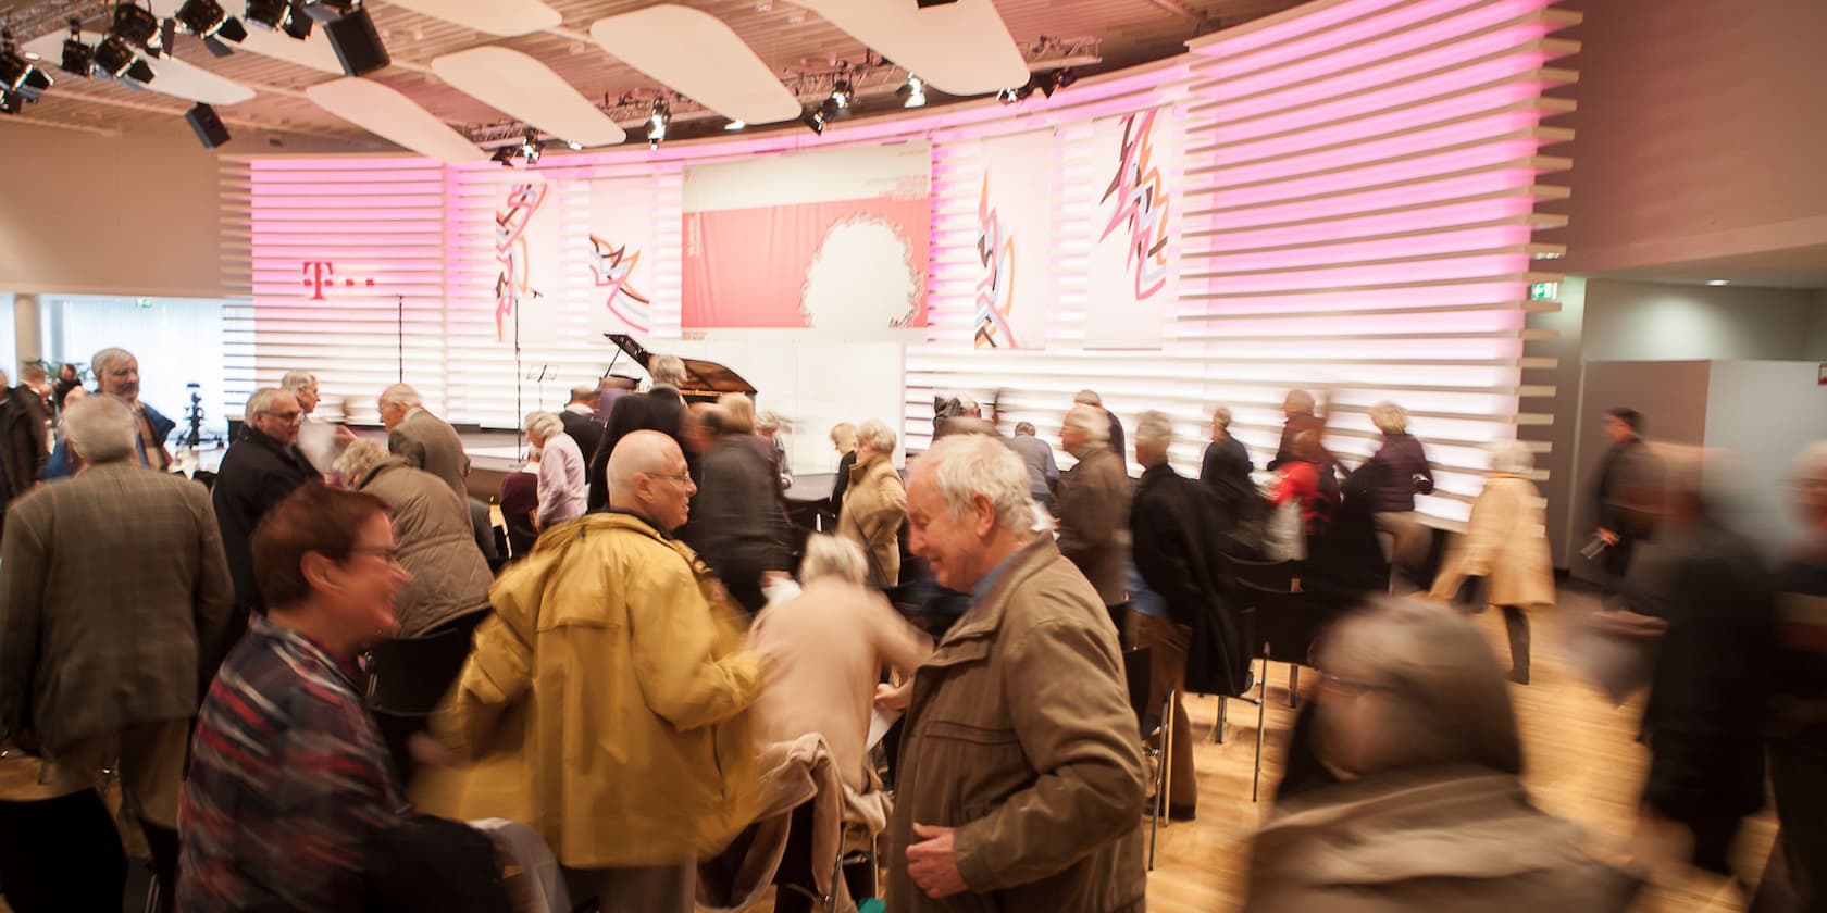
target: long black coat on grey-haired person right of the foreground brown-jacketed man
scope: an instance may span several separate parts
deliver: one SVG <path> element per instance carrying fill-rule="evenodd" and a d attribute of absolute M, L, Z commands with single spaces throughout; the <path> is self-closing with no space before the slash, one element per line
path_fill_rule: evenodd
<path fill-rule="evenodd" d="M 1193 628 L 1195 645 L 1217 646 L 1188 650 L 1188 688 L 1200 694 L 1242 694 L 1250 681 L 1251 645 L 1235 603 L 1226 599 L 1222 509 L 1211 488 L 1166 464 L 1142 473 L 1129 508 L 1142 581 L 1167 603 L 1175 624 Z M 1204 657 L 1206 668 L 1195 668 L 1193 657 Z"/>

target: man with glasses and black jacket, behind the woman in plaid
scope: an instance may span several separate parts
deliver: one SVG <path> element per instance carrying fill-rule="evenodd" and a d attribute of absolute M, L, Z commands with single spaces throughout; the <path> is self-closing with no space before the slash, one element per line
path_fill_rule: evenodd
<path fill-rule="evenodd" d="M 247 626 L 250 612 L 263 614 L 265 601 L 254 582 L 254 528 L 274 504 L 318 478 L 316 467 L 298 449 L 303 420 L 298 398 L 278 387 L 261 387 L 247 400 L 241 435 L 223 455 L 210 500 L 221 526 L 228 575 L 234 577 L 234 634 Z"/>

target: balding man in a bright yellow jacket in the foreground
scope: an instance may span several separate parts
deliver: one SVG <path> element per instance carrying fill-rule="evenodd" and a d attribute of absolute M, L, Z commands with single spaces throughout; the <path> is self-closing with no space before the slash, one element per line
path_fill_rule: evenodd
<path fill-rule="evenodd" d="M 612 513 L 557 524 L 490 592 L 495 615 L 431 738 L 415 805 L 537 831 L 572 897 L 603 911 L 691 913 L 696 860 L 755 816 L 747 708 L 762 690 L 734 612 L 671 539 L 694 491 L 656 431 L 608 460 Z"/>

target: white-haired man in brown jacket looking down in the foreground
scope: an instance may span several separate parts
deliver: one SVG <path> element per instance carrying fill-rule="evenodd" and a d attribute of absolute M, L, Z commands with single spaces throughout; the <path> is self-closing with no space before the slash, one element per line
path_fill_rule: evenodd
<path fill-rule="evenodd" d="M 996 438 L 948 436 L 914 464 L 914 551 L 974 604 L 914 674 L 893 913 L 1144 909 L 1142 749 L 1116 632 L 1032 513 L 1027 469 Z"/>

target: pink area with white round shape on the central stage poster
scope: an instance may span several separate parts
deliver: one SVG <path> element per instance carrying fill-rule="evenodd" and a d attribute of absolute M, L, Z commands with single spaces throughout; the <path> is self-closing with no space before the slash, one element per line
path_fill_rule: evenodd
<path fill-rule="evenodd" d="M 926 325 L 930 197 L 685 214 L 680 327 Z"/>

